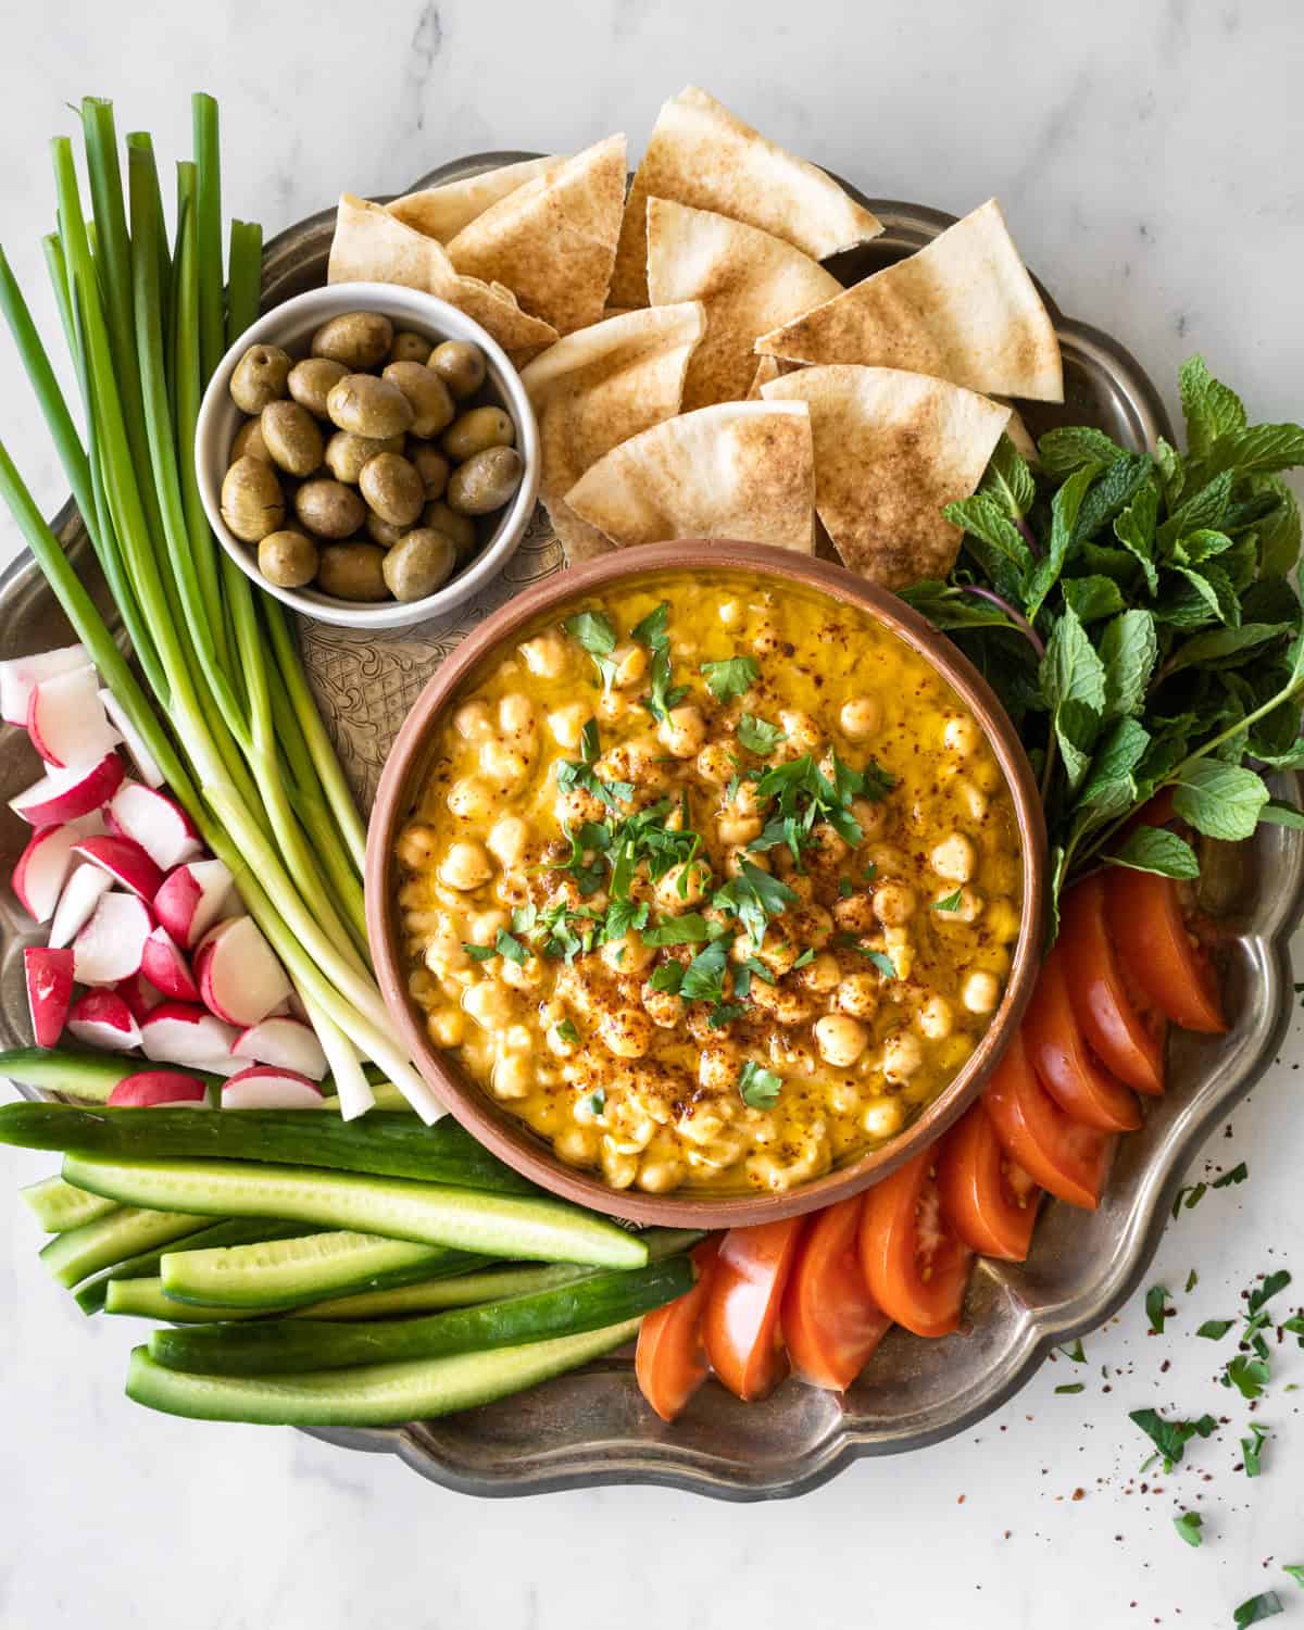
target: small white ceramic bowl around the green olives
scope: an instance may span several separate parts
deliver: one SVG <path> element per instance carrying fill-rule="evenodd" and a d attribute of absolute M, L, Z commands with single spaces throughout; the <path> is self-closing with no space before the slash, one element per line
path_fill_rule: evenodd
<path fill-rule="evenodd" d="M 494 531 L 482 541 L 479 554 L 471 559 L 471 564 L 424 600 L 362 603 L 336 600 L 316 588 L 280 588 L 269 584 L 259 572 L 258 548 L 241 543 L 222 520 L 222 478 L 227 474 L 231 442 L 244 421 L 244 414 L 231 401 L 230 386 L 235 365 L 249 346 L 258 344 L 280 346 L 295 359 L 306 357 L 308 342 L 316 329 L 344 311 L 380 311 L 393 321 L 396 329 L 411 329 L 416 334 L 429 336 L 432 344 L 443 339 L 465 339 L 479 346 L 486 360 L 486 380 L 478 399 L 496 399 L 512 416 L 517 427 L 517 448 L 525 460 L 525 474 L 515 497 L 497 515 Z M 316 618 L 321 623 L 337 623 L 341 628 L 408 628 L 411 623 L 424 623 L 427 618 L 452 611 L 463 600 L 469 600 L 515 554 L 525 528 L 530 525 L 540 489 L 538 425 L 530 398 L 525 394 L 520 375 L 507 360 L 507 352 L 486 334 L 479 323 L 463 316 L 456 306 L 435 300 L 434 295 L 422 293 L 419 289 L 401 289 L 396 284 L 329 284 L 326 289 L 310 289 L 308 293 L 295 295 L 261 316 L 231 346 L 209 380 L 199 409 L 194 458 L 209 525 L 241 572 L 253 579 L 259 588 L 266 588 L 269 595 L 275 595 L 277 600 L 293 606 L 303 616 Z"/>

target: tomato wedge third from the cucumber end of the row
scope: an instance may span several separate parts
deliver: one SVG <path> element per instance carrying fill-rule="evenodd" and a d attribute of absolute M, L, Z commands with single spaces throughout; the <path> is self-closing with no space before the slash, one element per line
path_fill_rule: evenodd
<path fill-rule="evenodd" d="M 831 1392 L 846 1392 L 892 1328 L 861 1268 L 864 1203 L 864 1195 L 852 1195 L 817 1213 L 784 1293 L 784 1345 L 792 1368 L 802 1381 Z"/>

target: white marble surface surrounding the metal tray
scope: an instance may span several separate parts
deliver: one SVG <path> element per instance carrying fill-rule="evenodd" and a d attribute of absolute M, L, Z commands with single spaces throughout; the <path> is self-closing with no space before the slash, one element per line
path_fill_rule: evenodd
<path fill-rule="evenodd" d="M 342 187 L 391 191 L 476 148 L 572 150 L 626 129 L 637 152 L 662 98 L 694 80 L 870 194 L 958 212 L 998 192 L 1064 310 L 1113 329 L 1165 386 L 1200 349 L 1257 414 L 1304 406 L 1296 0 L 64 0 L 7 7 L 2 26 L 0 230 L 46 326 L 44 139 L 72 129 L 65 103 L 86 91 L 181 155 L 187 91 L 212 90 L 227 205 L 275 231 Z M 64 486 L 7 342 L 0 378 L 0 434 L 52 510 Z M 0 522 L 0 557 L 15 546 Z M 1296 1060 L 1297 1030 L 1206 1151 L 1214 1169 L 1245 1159 L 1250 1182 L 1164 1239 L 1156 1280 L 1200 1271 L 1169 1335 L 1146 1337 L 1138 1299 L 1087 1341 L 1087 1368 L 1046 1368 L 976 1431 L 768 1508 L 660 1490 L 476 1503 L 289 1431 L 135 1410 L 121 1395 L 132 1333 L 54 1288 L 13 1200 L 51 1162 L 7 1152 L 0 1622 L 1100 1630 L 1231 1623 L 1268 1586 L 1283 1623 L 1304 1622 L 1278 1571 L 1304 1562 L 1304 1421 L 1283 1390 L 1304 1384 L 1304 1355 L 1281 1350 L 1252 1483 L 1232 1470 L 1245 1408 L 1190 1338 L 1255 1271 L 1304 1276 Z M 1055 1395 L 1079 1377 L 1086 1392 Z M 1231 1425 L 1141 1493 L 1126 1412 L 1143 1405 Z M 1205 1514 L 1200 1552 L 1172 1531 L 1183 1508 Z"/>

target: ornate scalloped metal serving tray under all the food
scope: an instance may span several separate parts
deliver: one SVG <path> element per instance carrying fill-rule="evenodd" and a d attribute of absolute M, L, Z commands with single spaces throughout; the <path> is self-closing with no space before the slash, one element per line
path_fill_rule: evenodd
<path fill-rule="evenodd" d="M 422 176 L 430 186 L 528 153 L 479 153 Z M 846 183 L 844 183 L 846 186 Z M 848 284 L 913 253 L 952 220 L 911 204 L 866 199 L 887 230 L 831 262 Z M 267 244 L 266 306 L 324 280 L 334 210 Z M 1045 293 L 1045 290 L 1043 290 Z M 1033 434 L 1055 422 L 1100 425 L 1128 447 L 1170 438 L 1164 404 L 1134 359 L 1108 334 L 1050 310 L 1064 352 L 1063 408 L 1029 406 Z M 77 512 L 55 520 L 91 579 L 93 556 Z M 435 663 L 522 584 L 561 567 L 540 510 L 504 579 L 474 603 L 419 628 L 357 634 L 305 621 L 310 678 L 346 769 L 370 804 L 390 742 Z M 101 593 L 101 603 L 104 597 Z M 67 624 L 29 556 L 0 579 L 0 650 L 18 655 L 65 644 Z M 34 778 L 21 730 L 0 729 L 0 800 Z M 0 1040 L 29 1040 L 21 949 L 37 939 L 8 887 L 26 828 L 0 810 Z M 1271 887 L 1263 887 L 1271 879 Z M 722 1500 L 773 1500 L 826 1482 L 861 1456 L 900 1454 L 981 1420 L 1022 1387 L 1050 1350 L 1105 1319 L 1141 1281 L 1182 1174 L 1214 1121 L 1268 1068 L 1291 1007 L 1288 937 L 1304 911 L 1304 836 L 1260 826 L 1253 843 L 1211 846 L 1205 905 L 1218 919 L 1229 970 L 1226 1037 L 1178 1033 L 1170 1086 L 1146 1100 L 1146 1125 L 1123 1138 L 1095 1213 L 1053 1203 L 1025 1263 L 983 1262 L 965 1309 L 965 1333 L 921 1341 L 893 1330 L 844 1397 L 787 1382 L 743 1405 L 716 1382 L 665 1426 L 642 1403 L 632 1363 L 616 1356 L 522 1397 L 401 1430 L 318 1431 L 347 1449 L 399 1456 L 424 1477 L 473 1495 L 528 1495 L 597 1483 L 665 1483 Z"/>

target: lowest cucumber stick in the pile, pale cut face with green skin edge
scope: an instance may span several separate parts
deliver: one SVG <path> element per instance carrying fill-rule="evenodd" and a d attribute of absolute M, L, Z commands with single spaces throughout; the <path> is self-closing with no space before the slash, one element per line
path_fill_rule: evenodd
<path fill-rule="evenodd" d="M 523 1392 L 624 1346 L 637 1328 L 637 1319 L 626 1319 L 605 1330 L 504 1346 L 494 1353 L 368 1364 L 344 1374 L 323 1369 L 275 1377 L 194 1376 L 165 1369 L 147 1348 L 139 1346 L 127 1369 L 127 1397 L 152 1410 L 192 1420 L 269 1426 L 398 1426 Z"/>

